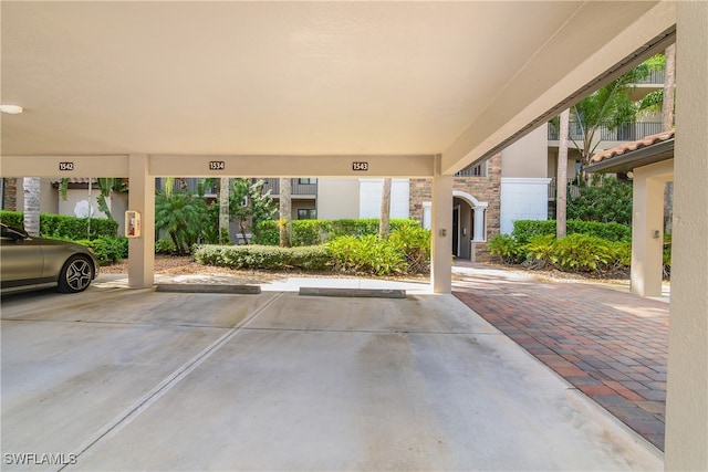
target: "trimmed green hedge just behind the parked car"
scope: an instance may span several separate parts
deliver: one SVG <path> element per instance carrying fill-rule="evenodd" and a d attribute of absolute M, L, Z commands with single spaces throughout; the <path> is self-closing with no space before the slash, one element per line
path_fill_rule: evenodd
<path fill-rule="evenodd" d="M 24 228 L 24 213 L 22 211 L 0 211 L 0 221 L 15 227 Z M 65 214 L 40 213 L 40 235 L 43 238 L 70 239 L 76 238 L 115 238 L 118 235 L 118 223 L 105 218 L 91 219 L 91 233 L 88 233 L 88 219 L 69 217 Z"/>

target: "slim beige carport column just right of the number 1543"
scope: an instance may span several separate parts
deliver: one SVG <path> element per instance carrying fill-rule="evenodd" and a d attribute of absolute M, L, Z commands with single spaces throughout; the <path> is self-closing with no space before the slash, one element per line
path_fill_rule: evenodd
<path fill-rule="evenodd" d="M 440 156 L 433 176 L 430 283 L 434 293 L 452 292 L 452 176 L 441 175 Z"/>

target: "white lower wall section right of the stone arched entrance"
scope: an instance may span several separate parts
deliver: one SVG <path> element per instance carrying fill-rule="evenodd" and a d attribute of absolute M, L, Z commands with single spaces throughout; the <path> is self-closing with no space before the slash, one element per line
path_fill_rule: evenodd
<path fill-rule="evenodd" d="M 549 178 L 501 178 L 500 232 L 509 234 L 516 220 L 546 220 Z"/>

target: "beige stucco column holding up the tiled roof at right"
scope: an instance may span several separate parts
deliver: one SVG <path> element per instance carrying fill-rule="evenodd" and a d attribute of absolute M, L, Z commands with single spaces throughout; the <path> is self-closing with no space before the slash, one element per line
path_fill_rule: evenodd
<path fill-rule="evenodd" d="M 634 171 L 632 218 L 632 292 L 660 296 L 664 255 L 665 178 L 649 169 Z M 669 166 L 670 167 L 670 166 Z"/>

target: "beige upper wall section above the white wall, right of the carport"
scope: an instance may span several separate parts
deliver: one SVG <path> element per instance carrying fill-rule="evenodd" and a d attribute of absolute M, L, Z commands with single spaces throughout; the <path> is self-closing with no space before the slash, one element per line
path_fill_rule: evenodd
<path fill-rule="evenodd" d="M 543 124 L 501 151 L 501 177 L 546 177 L 548 148 Z"/>

